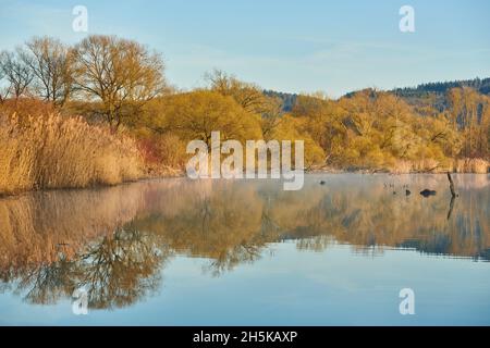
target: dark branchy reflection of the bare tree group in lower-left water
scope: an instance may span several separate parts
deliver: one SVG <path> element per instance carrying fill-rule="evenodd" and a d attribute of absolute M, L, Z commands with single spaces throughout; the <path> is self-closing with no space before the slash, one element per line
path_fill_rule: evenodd
<path fill-rule="evenodd" d="M 148 234 L 124 227 L 90 243 L 76 258 L 60 256 L 56 262 L 24 269 L 14 278 L 2 273 L 2 281 L 15 282 L 15 291 L 30 303 L 56 303 L 85 288 L 90 308 L 121 308 L 159 289 L 158 270 L 168 257 Z"/>

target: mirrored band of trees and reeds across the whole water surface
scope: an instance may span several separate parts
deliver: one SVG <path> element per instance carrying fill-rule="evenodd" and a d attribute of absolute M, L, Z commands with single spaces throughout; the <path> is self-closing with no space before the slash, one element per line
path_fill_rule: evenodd
<path fill-rule="evenodd" d="M 488 176 L 460 178 L 451 214 L 443 178 L 412 178 L 414 191 L 440 192 L 429 199 L 393 195 L 385 179 L 332 176 L 296 192 L 271 182 L 176 179 L 4 199 L 1 286 L 33 303 L 83 286 L 90 308 L 120 308 L 158 290 L 174 253 L 206 258 L 219 275 L 285 240 L 299 250 L 342 243 L 363 253 L 403 247 L 490 260 Z"/>

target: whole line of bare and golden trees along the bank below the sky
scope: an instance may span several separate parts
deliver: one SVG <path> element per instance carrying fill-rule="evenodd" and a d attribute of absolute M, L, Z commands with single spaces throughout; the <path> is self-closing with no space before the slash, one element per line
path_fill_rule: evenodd
<path fill-rule="evenodd" d="M 169 87 L 160 53 L 102 35 L 73 46 L 33 38 L 0 53 L 0 77 L 1 104 L 35 99 L 124 129 L 157 166 L 182 166 L 188 140 L 209 141 L 220 130 L 242 141 L 303 139 L 308 167 L 488 171 L 490 97 L 467 86 L 417 102 L 376 89 L 336 100 L 322 94 L 285 100 L 216 70 L 205 88 L 181 91 Z M 475 159 L 480 162 L 468 162 Z"/>

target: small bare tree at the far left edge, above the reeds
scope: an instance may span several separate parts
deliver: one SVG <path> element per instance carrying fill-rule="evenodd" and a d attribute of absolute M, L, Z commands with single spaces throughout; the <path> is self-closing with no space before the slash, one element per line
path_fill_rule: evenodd
<path fill-rule="evenodd" d="M 28 94 L 34 74 L 24 60 L 21 59 L 20 49 L 16 49 L 14 52 L 2 51 L 0 53 L 0 69 L 8 84 L 8 94 L 4 98 L 12 97 L 17 100 L 20 97 Z"/>

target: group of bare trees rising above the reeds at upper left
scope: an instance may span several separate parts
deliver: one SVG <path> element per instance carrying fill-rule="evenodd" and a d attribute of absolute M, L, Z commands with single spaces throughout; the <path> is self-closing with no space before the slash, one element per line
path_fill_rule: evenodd
<path fill-rule="evenodd" d="M 161 55 L 115 36 L 88 36 L 74 46 L 35 37 L 0 53 L 0 101 L 38 98 L 62 109 L 70 101 L 97 103 L 97 113 L 119 128 L 124 113 L 166 88 Z"/>

